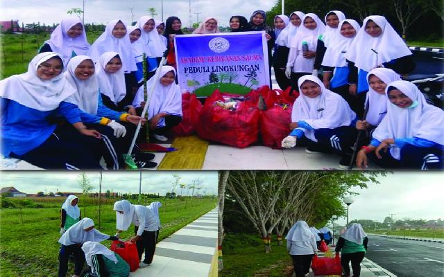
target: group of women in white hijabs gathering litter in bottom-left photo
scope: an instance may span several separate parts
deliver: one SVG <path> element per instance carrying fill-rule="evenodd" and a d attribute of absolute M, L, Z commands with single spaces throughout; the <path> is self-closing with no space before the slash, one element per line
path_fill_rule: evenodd
<path fill-rule="evenodd" d="M 80 218 L 77 206 L 78 197 L 69 195 L 62 204 L 62 224 L 60 233 L 59 277 L 65 277 L 70 256 L 74 257 L 74 276 L 80 276 L 85 261 L 89 266 L 89 274 L 85 276 L 121 276 L 129 275 L 130 267 L 117 253 L 103 244 L 103 240 L 119 240 L 120 233 L 127 231 L 130 225 L 135 225 L 139 267 L 147 267 L 153 261 L 155 244 L 160 231 L 159 208 L 160 202 L 152 202 L 149 206 L 133 205 L 128 200 L 117 201 L 116 211 L 117 233 L 105 235 L 94 229 L 94 221 L 85 217 Z"/>

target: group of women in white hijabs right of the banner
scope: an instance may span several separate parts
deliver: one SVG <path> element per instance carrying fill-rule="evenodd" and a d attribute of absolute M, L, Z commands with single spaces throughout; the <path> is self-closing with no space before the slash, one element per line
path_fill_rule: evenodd
<path fill-rule="evenodd" d="M 308 153 L 340 154 L 339 167 L 347 168 L 357 130 L 361 130 L 367 134 L 357 145 L 362 146 L 357 153 L 361 168 L 368 166 L 367 155 L 383 168 L 443 168 L 444 132 L 437 127 L 444 120 L 443 111 L 427 104 L 414 84 L 401 81 L 400 74 L 412 71 L 414 63 L 393 27 L 382 16 L 370 16 L 360 28 L 337 10 L 328 12 L 325 22 L 327 26 L 316 15 L 307 14 L 296 35 L 287 39 L 290 46 L 293 43 L 287 75 L 293 84 L 297 82 L 300 97 L 293 105 L 293 131 L 282 147 L 293 147 L 297 139 L 298 145 L 308 146 Z M 321 66 L 323 81 L 318 79 Z M 310 92 L 307 84 L 321 93 Z M 408 105 L 396 105 L 391 96 L 395 92 L 389 92 L 391 84 L 401 87 L 393 86 L 410 99 Z M 362 118 L 364 107 L 366 117 Z"/>

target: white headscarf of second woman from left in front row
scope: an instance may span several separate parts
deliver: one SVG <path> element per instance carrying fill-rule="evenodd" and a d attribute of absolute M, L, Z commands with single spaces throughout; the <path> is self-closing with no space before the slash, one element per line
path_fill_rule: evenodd
<path fill-rule="evenodd" d="M 68 102 L 77 105 L 79 109 L 88 114 L 97 114 L 97 107 L 99 105 L 99 82 L 97 82 L 96 74 L 93 74 L 87 80 L 80 80 L 74 72 L 78 64 L 84 60 L 92 59 L 85 55 L 73 57 L 68 63 L 67 71 L 63 73 L 67 82 L 71 84 L 76 91 L 69 97 Z"/>

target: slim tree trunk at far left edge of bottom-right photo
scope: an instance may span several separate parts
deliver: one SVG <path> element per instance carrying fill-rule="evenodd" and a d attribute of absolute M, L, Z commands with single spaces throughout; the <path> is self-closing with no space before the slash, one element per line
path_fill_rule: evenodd
<path fill-rule="evenodd" d="M 218 172 L 218 180 L 219 184 L 217 186 L 217 195 L 219 196 L 219 214 L 218 214 L 218 226 L 217 226 L 217 248 L 219 257 L 217 259 L 218 262 L 218 270 L 221 271 L 223 269 L 223 260 L 222 260 L 222 242 L 225 234 L 223 233 L 223 206 L 225 204 L 225 186 L 227 184 L 228 177 L 230 176 L 230 170 L 220 170 Z"/>

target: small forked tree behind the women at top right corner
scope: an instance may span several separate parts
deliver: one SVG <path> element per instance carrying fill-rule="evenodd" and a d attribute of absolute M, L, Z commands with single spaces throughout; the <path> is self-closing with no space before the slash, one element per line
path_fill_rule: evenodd
<path fill-rule="evenodd" d="M 407 28 L 413 24 L 427 9 L 422 8 L 423 1 L 418 0 L 393 0 L 393 8 L 396 17 L 401 23 L 402 39 L 407 37 Z"/>

